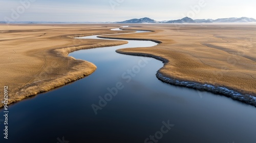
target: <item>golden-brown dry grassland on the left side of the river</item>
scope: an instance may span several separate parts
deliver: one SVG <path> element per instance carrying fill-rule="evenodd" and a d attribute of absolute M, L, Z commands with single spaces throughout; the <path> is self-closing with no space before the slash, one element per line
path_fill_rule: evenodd
<path fill-rule="evenodd" d="M 110 28 L 116 27 L 0 25 L 0 101 L 4 86 L 9 87 L 9 103 L 13 103 L 92 74 L 93 63 L 68 57 L 68 53 L 126 42 L 73 37 L 120 32 Z"/>

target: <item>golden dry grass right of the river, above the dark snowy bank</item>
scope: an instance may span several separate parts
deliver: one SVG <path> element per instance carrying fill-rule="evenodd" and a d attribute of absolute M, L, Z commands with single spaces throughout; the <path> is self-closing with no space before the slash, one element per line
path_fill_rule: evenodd
<path fill-rule="evenodd" d="M 111 37 L 162 43 L 117 52 L 166 59 L 159 70 L 165 77 L 256 95 L 256 25 L 143 25 L 129 29 L 155 32 Z"/>

